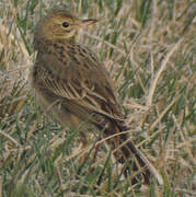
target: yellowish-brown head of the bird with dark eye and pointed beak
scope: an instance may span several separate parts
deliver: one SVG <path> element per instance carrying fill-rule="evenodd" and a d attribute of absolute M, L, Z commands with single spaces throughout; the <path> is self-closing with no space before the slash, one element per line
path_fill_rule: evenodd
<path fill-rule="evenodd" d="M 81 20 L 65 9 L 53 10 L 35 28 L 36 39 L 71 39 L 79 28 L 96 23 L 95 19 Z"/>

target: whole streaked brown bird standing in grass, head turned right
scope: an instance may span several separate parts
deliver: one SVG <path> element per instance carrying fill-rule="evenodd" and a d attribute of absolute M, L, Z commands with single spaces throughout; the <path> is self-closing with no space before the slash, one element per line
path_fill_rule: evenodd
<path fill-rule="evenodd" d="M 46 114 L 57 123 L 81 132 L 97 131 L 114 151 L 117 163 L 124 164 L 124 175 L 138 172 L 131 184 L 150 184 L 152 172 L 138 148 L 129 140 L 126 116 L 117 99 L 116 88 L 104 63 L 88 47 L 77 40 L 79 30 L 97 23 L 96 19 L 80 19 L 69 9 L 54 9 L 35 26 L 36 61 L 32 69 L 32 85 Z M 111 138 L 109 138 L 111 137 Z"/>

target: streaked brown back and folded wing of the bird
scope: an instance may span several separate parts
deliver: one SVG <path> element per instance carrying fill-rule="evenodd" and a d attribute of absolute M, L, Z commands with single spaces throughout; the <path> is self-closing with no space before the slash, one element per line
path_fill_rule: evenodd
<path fill-rule="evenodd" d="M 124 118 L 108 72 L 89 49 L 42 54 L 37 59 L 47 90 L 93 113 Z"/>

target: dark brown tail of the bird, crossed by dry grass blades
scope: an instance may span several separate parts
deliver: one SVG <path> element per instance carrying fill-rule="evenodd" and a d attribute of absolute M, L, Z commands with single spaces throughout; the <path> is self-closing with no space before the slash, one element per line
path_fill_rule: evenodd
<path fill-rule="evenodd" d="M 115 132 L 114 132 L 115 130 Z M 153 176 L 158 176 L 158 183 L 162 185 L 162 178 L 157 170 L 151 165 L 147 158 L 134 146 L 128 139 L 128 128 L 125 126 L 113 127 L 113 134 L 111 129 L 105 130 L 105 137 L 111 137 L 107 140 L 108 146 L 114 150 L 114 157 L 118 163 L 125 164 L 124 175 L 127 177 L 135 173 L 132 184 L 143 182 L 150 184 Z"/>

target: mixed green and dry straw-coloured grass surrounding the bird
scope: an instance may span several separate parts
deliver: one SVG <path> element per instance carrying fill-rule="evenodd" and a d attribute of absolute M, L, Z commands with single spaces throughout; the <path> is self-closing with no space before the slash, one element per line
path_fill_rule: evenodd
<path fill-rule="evenodd" d="M 79 39 L 105 62 L 135 143 L 163 177 L 163 186 L 141 189 L 122 178 L 104 146 L 93 162 L 99 137 L 79 149 L 80 130 L 48 119 L 31 90 L 35 24 L 61 3 L 0 2 L 0 197 L 196 195 L 194 0 L 66 1 L 78 15 L 101 19 Z"/>

